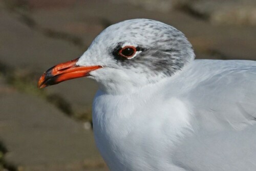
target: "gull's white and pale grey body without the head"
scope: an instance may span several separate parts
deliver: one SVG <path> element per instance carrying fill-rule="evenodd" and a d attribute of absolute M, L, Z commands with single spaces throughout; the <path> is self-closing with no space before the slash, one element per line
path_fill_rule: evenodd
<path fill-rule="evenodd" d="M 133 93 L 99 91 L 93 124 L 101 155 L 114 171 L 255 168 L 255 66 L 255 61 L 196 60 Z M 245 134 L 252 137 L 244 139 Z"/>

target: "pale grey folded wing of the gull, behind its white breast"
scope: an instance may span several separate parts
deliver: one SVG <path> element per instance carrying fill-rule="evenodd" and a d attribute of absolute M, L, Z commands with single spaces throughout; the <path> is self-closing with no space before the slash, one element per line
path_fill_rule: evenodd
<path fill-rule="evenodd" d="M 197 127 L 174 160 L 187 170 L 256 170 L 256 62 L 216 62 L 222 68 L 212 64 L 218 72 L 204 78 L 205 69 L 188 96 Z"/>

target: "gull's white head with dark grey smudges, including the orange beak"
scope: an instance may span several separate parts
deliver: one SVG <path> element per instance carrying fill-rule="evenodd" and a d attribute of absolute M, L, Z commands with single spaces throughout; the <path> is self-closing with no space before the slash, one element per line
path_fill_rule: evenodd
<path fill-rule="evenodd" d="M 81 57 L 46 71 L 43 88 L 87 76 L 107 93 L 125 93 L 171 77 L 195 57 L 184 34 L 151 19 L 131 19 L 103 30 Z"/>

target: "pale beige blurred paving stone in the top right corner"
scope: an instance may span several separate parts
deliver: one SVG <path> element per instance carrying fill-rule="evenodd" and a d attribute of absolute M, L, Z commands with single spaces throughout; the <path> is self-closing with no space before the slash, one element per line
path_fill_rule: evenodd
<path fill-rule="evenodd" d="M 256 1 L 201 0 L 190 3 L 190 8 L 218 25 L 256 26 Z"/>

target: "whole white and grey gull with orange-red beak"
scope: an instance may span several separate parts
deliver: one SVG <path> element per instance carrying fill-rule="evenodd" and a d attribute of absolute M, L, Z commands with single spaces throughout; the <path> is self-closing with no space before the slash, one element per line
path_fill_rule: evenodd
<path fill-rule="evenodd" d="M 93 131 L 112 171 L 256 170 L 256 61 L 194 58 L 174 27 L 125 20 L 38 87 L 97 81 Z"/>

